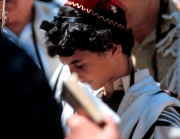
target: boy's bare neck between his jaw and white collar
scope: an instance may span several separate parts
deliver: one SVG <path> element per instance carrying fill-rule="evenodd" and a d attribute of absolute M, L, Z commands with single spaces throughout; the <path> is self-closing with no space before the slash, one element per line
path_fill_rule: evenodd
<path fill-rule="evenodd" d="M 119 62 L 116 61 L 116 67 L 114 68 L 115 70 L 113 70 L 114 73 L 114 77 L 105 84 L 104 88 L 104 95 L 109 98 L 112 96 L 112 93 L 114 91 L 114 81 L 116 81 L 117 79 L 129 75 L 130 74 L 130 70 L 131 70 L 131 62 L 130 59 L 127 55 L 124 55 L 123 57 L 120 58 L 121 60 Z M 117 64 L 117 63 L 121 63 L 121 64 Z M 122 64 L 123 63 L 123 64 Z M 123 65 L 123 66 L 120 66 Z"/>

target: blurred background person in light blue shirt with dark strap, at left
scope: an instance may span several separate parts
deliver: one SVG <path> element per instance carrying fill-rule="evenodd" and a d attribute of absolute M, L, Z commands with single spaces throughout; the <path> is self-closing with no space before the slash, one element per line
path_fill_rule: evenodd
<path fill-rule="evenodd" d="M 24 49 L 50 80 L 59 65 L 58 58 L 50 58 L 44 47 L 44 32 L 39 29 L 43 19 L 53 20 L 59 5 L 36 0 L 6 0 L 9 22 L 6 27 L 17 37 Z M 6 29 L 6 30 L 8 30 Z"/>

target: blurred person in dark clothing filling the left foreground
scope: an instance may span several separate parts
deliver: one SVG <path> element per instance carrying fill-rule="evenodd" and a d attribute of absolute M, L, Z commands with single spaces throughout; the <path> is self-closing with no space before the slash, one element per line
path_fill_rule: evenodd
<path fill-rule="evenodd" d="M 1 135 L 63 139 L 58 107 L 45 75 L 11 32 L 1 28 L 8 21 L 3 2 L 0 0 Z"/>

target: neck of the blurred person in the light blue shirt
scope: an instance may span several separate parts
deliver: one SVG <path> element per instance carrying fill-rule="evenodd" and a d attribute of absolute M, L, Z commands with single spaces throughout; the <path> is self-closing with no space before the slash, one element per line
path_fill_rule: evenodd
<path fill-rule="evenodd" d="M 6 27 L 9 28 L 19 37 L 24 27 L 31 22 L 31 19 L 32 19 L 32 14 L 27 16 L 27 18 L 24 18 L 24 20 L 20 22 L 13 22 L 13 23 L 9 22 L 6 24 Z"/>

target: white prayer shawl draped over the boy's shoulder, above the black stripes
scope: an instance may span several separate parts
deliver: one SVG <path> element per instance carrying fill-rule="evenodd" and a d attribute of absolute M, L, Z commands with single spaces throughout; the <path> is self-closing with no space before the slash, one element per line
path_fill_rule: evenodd
<path fill-rule="evenodd" d="M 180 106 L 177 99 L 165 93 L 156 94 L 158 91 L 160 88 L 151 76 L 141 79 L 127 89 L 117 112 L 122 121 L 120 128 L 123 139 L 129 139 L 138 121 L 132 138 L 143 138 L 165 107 Z"/>

